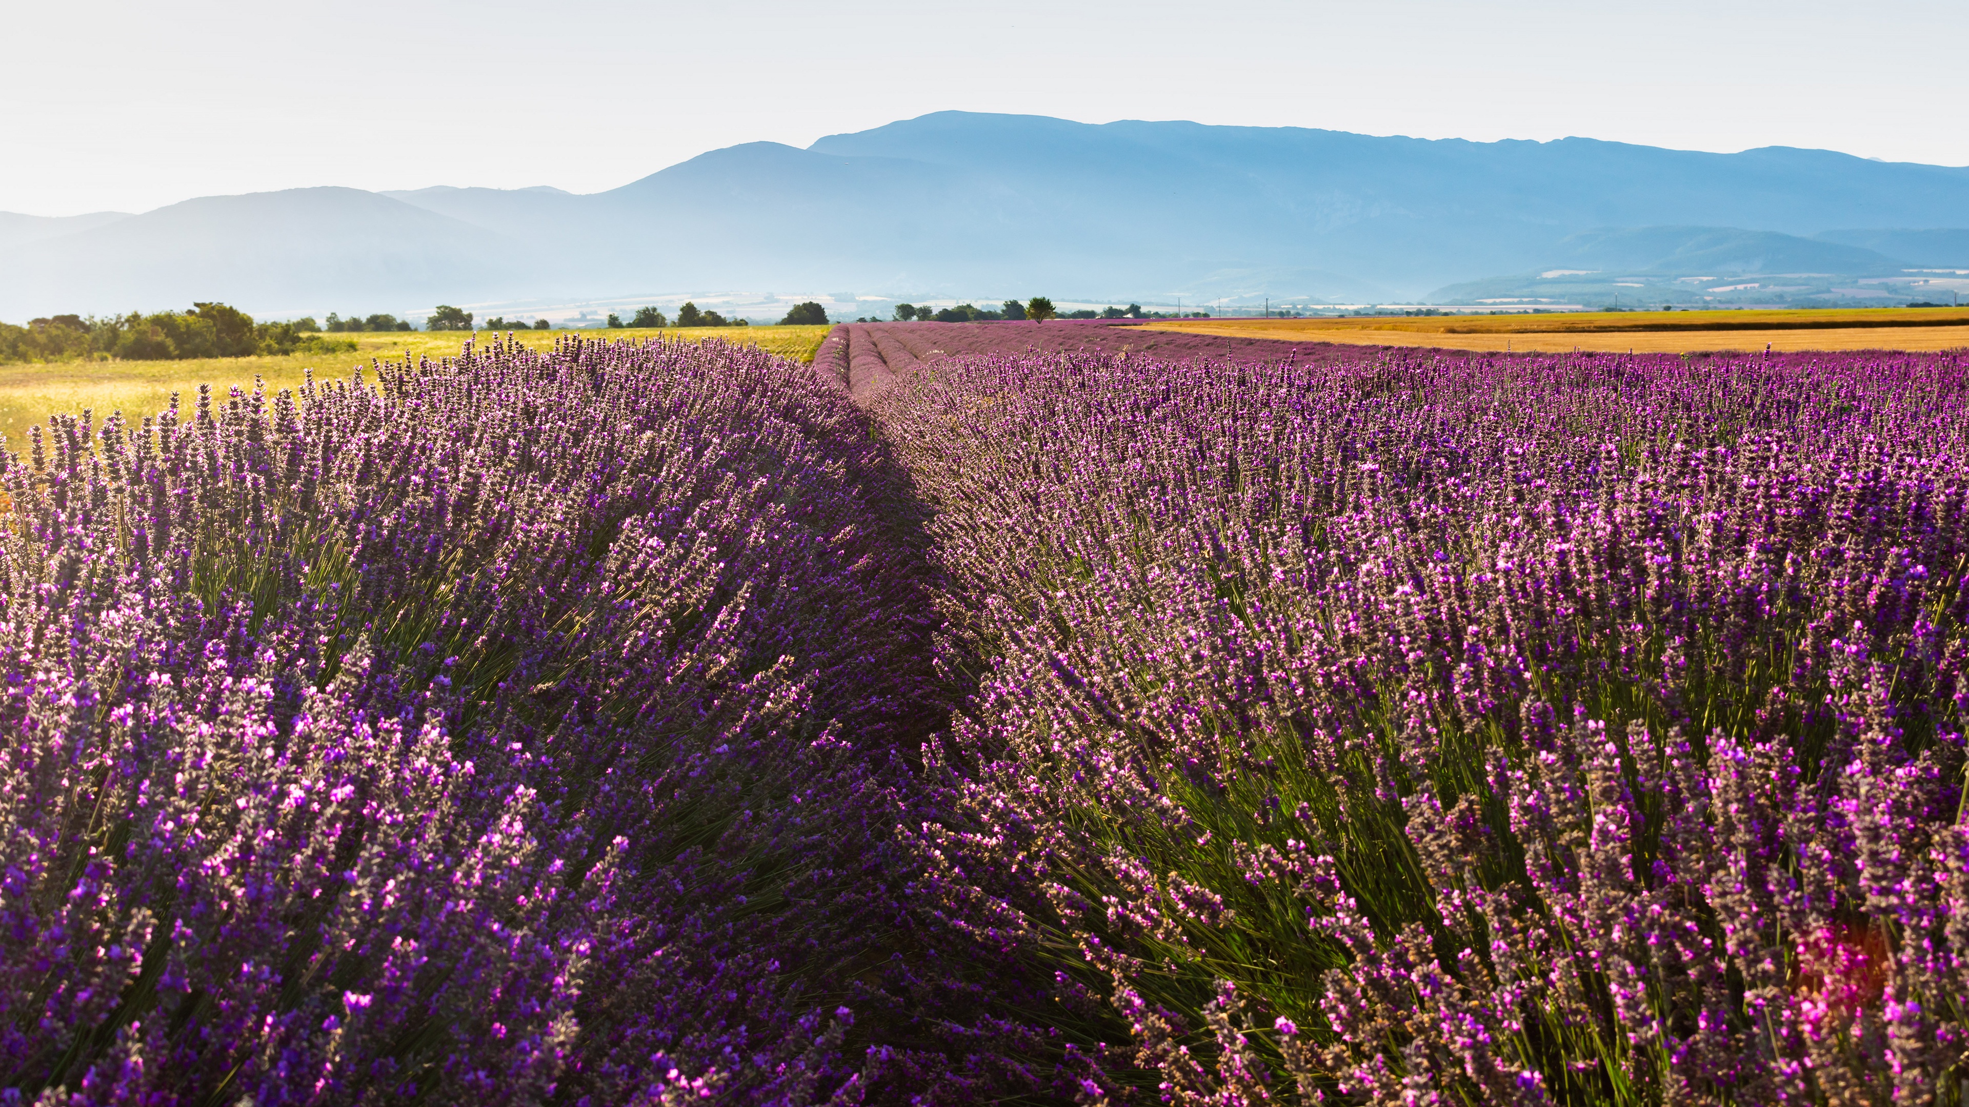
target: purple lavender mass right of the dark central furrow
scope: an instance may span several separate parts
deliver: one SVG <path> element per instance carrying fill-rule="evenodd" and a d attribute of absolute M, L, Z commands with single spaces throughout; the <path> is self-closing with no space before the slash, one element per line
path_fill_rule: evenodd
<path fill-rule="evenodd" d="M 983 355 L 878 414 L 977 682 L 918 894 L 1128 1042 L 1083 1095 L 1955 1101 L 1957 357 Z"/>

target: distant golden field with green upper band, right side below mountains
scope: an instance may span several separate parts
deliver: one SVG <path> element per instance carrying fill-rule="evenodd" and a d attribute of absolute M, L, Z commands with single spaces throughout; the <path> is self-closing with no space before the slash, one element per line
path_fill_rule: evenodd
<path fill-rule="evenodd" d="M 1357 319 L 1181 319 L 1154 331 L 1455 351 L 1945 351 L 1969 347 L 1969 309 L 1579 311 Z"/>

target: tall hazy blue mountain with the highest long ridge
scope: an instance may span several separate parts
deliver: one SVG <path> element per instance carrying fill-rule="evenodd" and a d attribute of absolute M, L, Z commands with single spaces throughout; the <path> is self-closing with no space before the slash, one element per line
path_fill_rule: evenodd
<path fill-rule="evenodd" d="M 1969 169 L 1790 148 L 1695 154 L 1587 138 L 1461 142 L 937 112 L 807 150 L 713 150 L 593 197 L 394 195 L 516 238 L 589 238 L 591 276 L 618 288 L 805 282 L 894 293 L 1048 286 L 1112 297 L 1357 299 L 1577 264 L 1569 258 L 1581 242 L 1569 238 L 1601 228 L 1802 238 L 1829 227 L 1945 223 L 1969 211 Z M 1689 264 L 1766 272 L 1810 254 L 1798 242 L 1784 246 L 1790 254 L 1772 254 L 1774 238 L 1752 242 L 1711 242 L 1723 256 L 1693 254 Z M 1878 264 L 1861 254 L 1841 264 L 1861 260 L 1869 272 Z"/>

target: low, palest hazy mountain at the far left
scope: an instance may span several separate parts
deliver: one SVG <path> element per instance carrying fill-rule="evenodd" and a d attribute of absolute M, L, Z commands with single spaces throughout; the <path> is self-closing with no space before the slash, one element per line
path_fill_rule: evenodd
<path fill-rule="evenodd" d="M 388 311 L 510 295 L 508 238 L 360 189 L 203 197 L 0 250 L 0 319 L 158 311 L 222 299 L 250 311 Z"/>

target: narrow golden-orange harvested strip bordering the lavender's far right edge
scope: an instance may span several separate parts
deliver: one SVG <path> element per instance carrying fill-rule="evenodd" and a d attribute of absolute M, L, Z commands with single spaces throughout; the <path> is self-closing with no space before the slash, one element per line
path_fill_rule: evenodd
<path fill-rule="evenodd" d="M 1540 321 L 1550 315 L 1536 317 Z M 1433 319 L 1431 319 L 1433 321 Z M 1341 325 L 1363 323 L 1363 325 Z M 1374 323 L 1374 325 L 1366 325 Z M 1969 329 L 1959 325 L 1943 327 L 1774 327 L 1760 331 L 1743 329 L 1703 329 L 1703 331 L 1426 331 L 1400 327 L 1398 323 L 1422 323 L 1422 319 L 1252 319 L 1244 321 L 1183 321 L 1148 323 L 1140 331 L 1213 335 L 1219 339 L 1274 341 L 1274 343 L 1343 343 L 1372 347 L 1435 347 L 1449 351 L 1526 351 L 1526 353 L 1565 353 L 1581 351 L 1634 351 L 1634 353 L 1701 353 L 1701 351 L 1760 351 L 1766 345 L 1774 351 L 1951 351 L 1969 347 Z"/>

